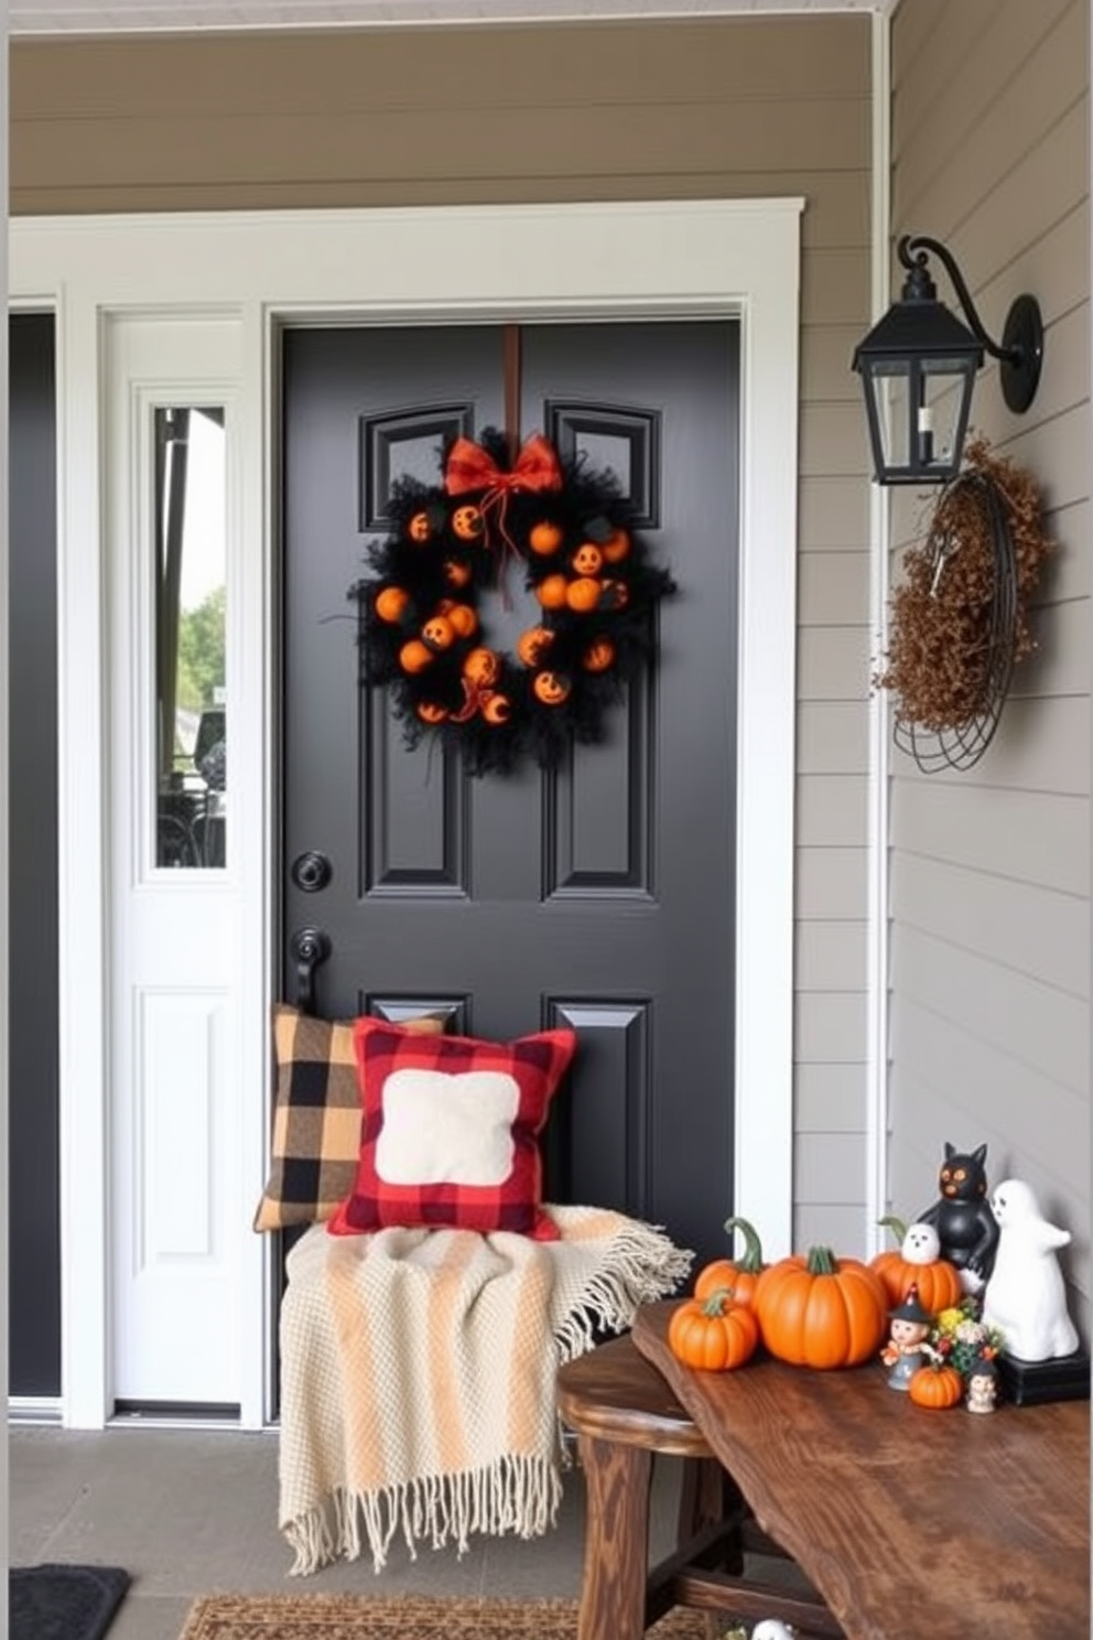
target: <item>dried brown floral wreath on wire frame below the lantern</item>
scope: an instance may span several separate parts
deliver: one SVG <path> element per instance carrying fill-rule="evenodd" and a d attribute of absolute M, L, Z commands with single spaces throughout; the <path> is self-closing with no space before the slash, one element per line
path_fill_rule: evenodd
<path fill-rule="evenodd" d="M 1029 600 L 1050 549 L 1032 477 L 972 440 L 905 554 L 873 677 L 896 695 L 896 743 L 927 772 L 967 769 L 990 745 L 1013 667 L 1036 649 Z"/>

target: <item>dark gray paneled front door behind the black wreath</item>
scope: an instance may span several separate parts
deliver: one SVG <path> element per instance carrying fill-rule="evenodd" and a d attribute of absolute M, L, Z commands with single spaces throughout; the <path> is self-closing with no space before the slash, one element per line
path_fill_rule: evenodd
<path fill-rule="evenodd" d="M 361 689 L 349 589 L 392 482 L 439 482 L 446 435 L 505 425 L 503 339 L 283 336 L 282 991 L 297 999 L 293 935 L 320 930 L 328 1017 L 444 1009 L 493 1040 L 574 1025 L 547 1197 L 713 1256 L 734 1168 L 737 328 L 521 328 L 523 436 L 610 466 L 677 590 L 603 743 L 474 779 L 457 753 L 408 751 L 383 692 Z M 508 584 L 515 607 L 490 594 L 483 617 L 515 648 L 536 605 Z M 315 854 L 324 886 L 298 864 Z"/>

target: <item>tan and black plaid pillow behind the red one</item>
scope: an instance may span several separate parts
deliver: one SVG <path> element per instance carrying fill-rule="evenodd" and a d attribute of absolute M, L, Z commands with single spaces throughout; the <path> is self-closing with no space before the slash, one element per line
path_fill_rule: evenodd
<path fill-rule="evenodd" d="M 403 1020 L 405 1030 L 441 1035 L 444 1020 Z M 256 1230 L 329 1219 L 352 1191 L 361 1151 L 361 1089 L 352 1020 L 316 1020 L 274 1004 L 274 1133 L 270 1171 Z"/>

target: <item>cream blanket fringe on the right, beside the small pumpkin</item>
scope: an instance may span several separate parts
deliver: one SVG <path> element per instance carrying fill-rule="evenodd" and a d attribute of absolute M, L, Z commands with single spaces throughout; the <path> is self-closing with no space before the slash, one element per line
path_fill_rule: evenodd
<path fill-rule="evenodd" d="M 624 1332 L 641 1304 L 667 1297 L 687 1279 L 695 1255 L 675 1246 L 659 1225 L 624 1220 L 605 1268 L 590 1278 L 554 1333 L 562 1360 L 592 1350 L 600 1330 Z"/>

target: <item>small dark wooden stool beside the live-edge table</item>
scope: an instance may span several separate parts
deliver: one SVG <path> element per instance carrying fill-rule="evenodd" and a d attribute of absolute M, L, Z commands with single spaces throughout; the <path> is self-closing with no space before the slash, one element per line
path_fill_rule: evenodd
<path fill-rule="evenodd" d="M 788 1560 L 755 1525 L 739 1487 L 629 1333 L 559 1371 L 557 1407 L 577 1435 L 588 1519 L 577 1640 L 641 1640 L 673 1606 L 726 1620 L 778 1617 L 798 1637 L 842 1629 L 798 1578 L 744 1576 L 744 1553 Z M 677 1548 L 649 1566 L 654 1455 L 683 1460 Z"/>

